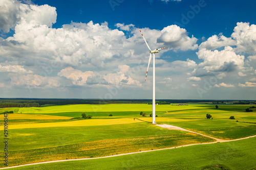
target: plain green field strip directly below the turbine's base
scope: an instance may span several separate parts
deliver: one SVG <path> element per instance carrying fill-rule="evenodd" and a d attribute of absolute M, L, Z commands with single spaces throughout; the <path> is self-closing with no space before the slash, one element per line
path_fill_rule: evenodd
<path fill-rule="evenodd" d="M 30 150 L 118 138 L 153 137 L 156 135 L 185 134 L 148 123 L 124 125 L 28 128 L 10 130 L 10 151 Z M 26 134 L 26 135 L 24 135 Z M 20 142 L 22 141 L 22 142 Z"/>

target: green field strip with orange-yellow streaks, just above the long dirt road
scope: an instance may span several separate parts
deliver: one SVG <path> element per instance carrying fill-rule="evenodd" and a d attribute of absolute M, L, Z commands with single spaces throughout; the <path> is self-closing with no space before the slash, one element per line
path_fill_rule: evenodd
<path fill-rule="evenodd" d="M 78 159 L 169 148 L 189 143 L 211 142 L 194 133 L 175 133 L 151 137 L 104 139 L 44 149 L 10 152 L 10 165 L 63 159 Z M 49 155 L 51 155 L 49 157 Z"/>

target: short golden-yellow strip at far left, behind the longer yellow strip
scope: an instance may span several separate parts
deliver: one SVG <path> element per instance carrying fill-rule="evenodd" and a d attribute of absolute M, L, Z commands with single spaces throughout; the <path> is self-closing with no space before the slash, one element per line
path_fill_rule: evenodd
<path fill-rule="evenodd" d="M 59 119 L 71 119 L 73 117 L 66 116 L 51 116 L 40 114 L 8 114 L 9 119 L 37 119 L 37 120 L 59 120 Z"/>

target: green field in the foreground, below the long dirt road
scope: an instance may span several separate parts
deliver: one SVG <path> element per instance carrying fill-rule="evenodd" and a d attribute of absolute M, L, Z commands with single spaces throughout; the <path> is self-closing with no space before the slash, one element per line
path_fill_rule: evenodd
<path fill-rule="evenodd" d="M 256 138 L 111 158 L 30 165 L 22 169 L 254 169 Z M 208 168 L 207 168 L 208 167 Z M 220 168 L 219 168 L 220 169 Z"/>

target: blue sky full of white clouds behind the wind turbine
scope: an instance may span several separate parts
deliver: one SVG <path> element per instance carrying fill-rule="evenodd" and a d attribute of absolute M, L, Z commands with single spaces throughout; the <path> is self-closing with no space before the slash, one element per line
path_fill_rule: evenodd
<path fill-rule="evenodd" d="M 0 98 L 255 100 L 255 1 L 1 0 Z"/>

